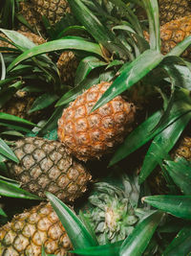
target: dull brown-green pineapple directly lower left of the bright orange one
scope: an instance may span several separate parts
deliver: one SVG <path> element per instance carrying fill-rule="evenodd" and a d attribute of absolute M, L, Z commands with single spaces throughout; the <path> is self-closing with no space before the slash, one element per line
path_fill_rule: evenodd
<path fill-rule="evenodd" d="M 20 163 L 8 161 L 8 170 L 23 189 L 41 198 L 49 191 L 64 201 L 74 201 L 86 191 L 91 175 L 60 142 L 26 137 L 16 141 L 11 150 Z"/>

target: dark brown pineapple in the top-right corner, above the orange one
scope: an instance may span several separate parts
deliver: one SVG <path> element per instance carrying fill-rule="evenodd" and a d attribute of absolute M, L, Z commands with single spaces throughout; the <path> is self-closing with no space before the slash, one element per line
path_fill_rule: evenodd
<path fill-rule="evenodd" d="M 189 0 L 159 0 L 161 25 L 188 15 L 191 15 L 191 3 Z"/>

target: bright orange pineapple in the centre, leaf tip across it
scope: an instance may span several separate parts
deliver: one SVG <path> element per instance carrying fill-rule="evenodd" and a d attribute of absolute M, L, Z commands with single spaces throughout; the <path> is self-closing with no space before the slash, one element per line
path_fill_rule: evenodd
<path fill-rule="evenodd" d="M 58 138 L 80 160 L 110 152 L 132 129 L 136 107 L 117 96 L 93 113 L 92 107 L 111 82 L 102 81 L 78 96 L 58 120 Z"/>

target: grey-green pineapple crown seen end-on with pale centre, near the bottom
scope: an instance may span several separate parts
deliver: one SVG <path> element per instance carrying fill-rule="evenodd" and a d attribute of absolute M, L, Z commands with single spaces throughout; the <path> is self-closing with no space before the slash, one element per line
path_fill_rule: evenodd
<path fill-rule="evenodd" d="M 90 205 L 82 209 L 96 232 L 99 244 L 124 240 L 138 222 L 135 211 L 139 197 L 138 176 L 130 179 L 123 174 L 119 181 L 119 186 L 111 182 L 95 183 L 93 193 L 88 198 Z"/>

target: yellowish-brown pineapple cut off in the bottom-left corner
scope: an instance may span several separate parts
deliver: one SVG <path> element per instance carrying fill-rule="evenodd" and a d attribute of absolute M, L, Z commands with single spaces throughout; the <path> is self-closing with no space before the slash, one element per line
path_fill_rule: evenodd
<path fill-rule="evenodd" d="M 73 255 L 68 235 L 50 203 L 40 203 L 0 227 L 0 254 L 7 256 Z"/>

